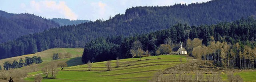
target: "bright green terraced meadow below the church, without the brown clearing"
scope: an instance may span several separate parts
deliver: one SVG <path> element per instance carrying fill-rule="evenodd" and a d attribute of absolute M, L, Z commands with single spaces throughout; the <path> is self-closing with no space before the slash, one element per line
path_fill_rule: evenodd
<path fill-rule="evenodd" d="M 155 72 L 186 63 L 186 57 L 181 55 L 160 55 L 140 58 L 120 59 L 120 67 L 116 68 L 116 60 L 111 61 L 112 70 L 106 71 L 104 62 L 92 63 L 92 71 L 88 71 L 87 64 L 70 66 L 60 70 L 56 79 L 43 79 L 42 82 L 148 82 Z M 180 62 L 182 58 L 182 62 Z M 129 65 L 128 66 L 128 64 Z M 25 79 L 34 81 L 34 76 Z"/>

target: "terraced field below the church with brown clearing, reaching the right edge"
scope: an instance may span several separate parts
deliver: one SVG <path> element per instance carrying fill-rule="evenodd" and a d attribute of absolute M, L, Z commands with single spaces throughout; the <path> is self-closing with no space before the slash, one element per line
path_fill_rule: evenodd
<path fill-rule="evenodd" d="M 104 62 L 92 63 L 92 70 L 88 71 L 88 65 L 82 64 L 77 66 L 69 66 L 60 70 L 56 79 L 43 79 L 43 82 L 148 82 L 152 79 L 152 76 L 158 72 L 165 72 L 170 69 L 175 69 L 174 71 L 186 72 L 186 74 L 192 74 L 193 77 L 196 72 L 200 72 L 206 78 L 207 74 L 220 74 L 224 82 L 228 82 L 228 74 L 234 73 L 239 74 L 245 82 L 255 82 L 256 81 L 256 71 L 239 71 L 239 70 L 219 70 L 218 67 L 212 66 L 212 68 L 198 68 L 198 64 L 195 59 L 186 60 L 184 55 L 160 55 L 160 59 L 157 56 L 151 56 L 149 60 L 146 57 L 142 58 L 142 61 L 138 61 L 139 58 L 131 59 L 120 59 L 120 66 L 116 68 L 116 60 L 111 61 L 112 70 L 107 71 Z M 180 62 L 182 58 L 182 62 Z M 208 61 L 210 62 L 210 61 Z M 193 64 L 195 67 L 188 66 L 187 64 Z M 188 70 L 191 69 L 192 70 Z M 184 70 L 179 70 L 184 69 Z M 34 72 L 33 74 L 38 74 L 41 72 Z M 175 73 L 175 72 L 174 72 Z M 177 72 L 176 72 L 177 73 Z M 170 74 L 170 73 L 169 73 Z M 165 75 L 169 75 L 168 73 Z M 179 73 L 176 74 L 178 76 Z M 44 76 L 44 75 L 42 75 Z M 34 76 L 25 78 L 28 82 L 34 81 Z"/>

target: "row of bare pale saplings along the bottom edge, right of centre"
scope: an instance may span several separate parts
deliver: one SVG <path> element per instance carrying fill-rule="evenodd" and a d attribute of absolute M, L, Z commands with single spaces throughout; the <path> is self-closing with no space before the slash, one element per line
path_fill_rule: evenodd
<path fill-rule="evenodd" d="M 244 82 L 237 74 L 228 74 L 229 82 Z M 169 74 L 164 75 L 161 71 L 156 72 L 150 82 L 223 82 L 220 74 Z"/>

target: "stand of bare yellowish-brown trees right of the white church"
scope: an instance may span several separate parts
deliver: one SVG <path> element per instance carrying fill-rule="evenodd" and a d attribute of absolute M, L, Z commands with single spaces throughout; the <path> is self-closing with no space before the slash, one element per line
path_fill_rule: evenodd
<path fill-rule="evenodd" d="M 215 64 L 225 69 L 254 69 L 256 65 L 256 47 L 247 42 L 232 44 L 228 42 L 211 41 L 210 45 L 198 45 L 193 48 L 192 55 L 199 60 L 214 60 Z"/>

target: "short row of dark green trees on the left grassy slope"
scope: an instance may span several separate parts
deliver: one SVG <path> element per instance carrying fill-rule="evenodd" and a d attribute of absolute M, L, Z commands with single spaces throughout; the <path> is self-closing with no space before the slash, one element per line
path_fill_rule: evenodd
<path fill-rule="evenodd" d="M 25 61 L 22 58 L 19 59 L 19 62 L 14 60 L 12 63 L 9 61 L 4 62 L 4 69 L 9 70 L 10 68 L 21 68 L 23 66 L 29 66 L 32 64 L 42 63 L 41 57 L 25 57 Z"/>

